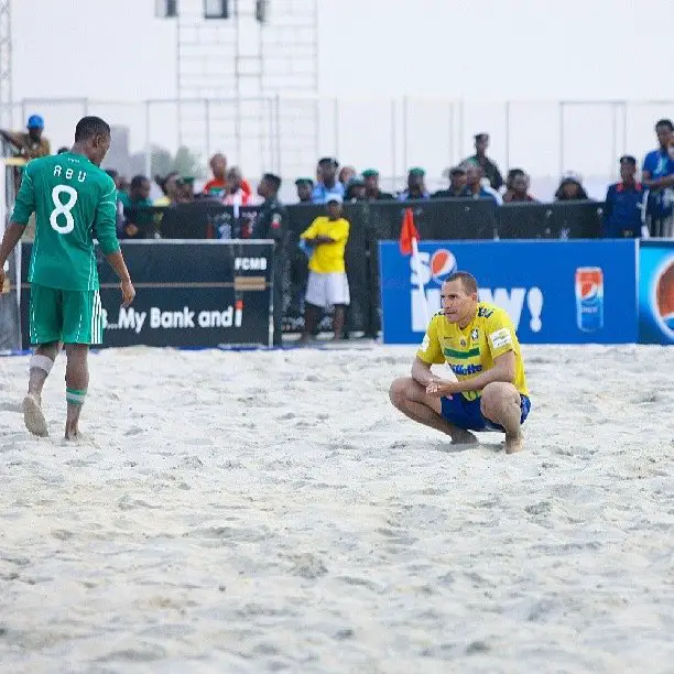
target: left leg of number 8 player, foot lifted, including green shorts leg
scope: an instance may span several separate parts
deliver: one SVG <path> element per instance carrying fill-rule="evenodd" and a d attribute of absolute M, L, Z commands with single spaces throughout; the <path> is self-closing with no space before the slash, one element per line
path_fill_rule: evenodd
<path fill-rule="evenodd" d="M 33 284 L 29 312 L 30 343 L 37 347 L 29 363 L 29 389 L 22 405 L 23 422 L 33 435 L 44 437 L 48 435 L 48 428 L 42 412 L 42 389 L 52 371 L 62 336 L 61 291 Z"/>

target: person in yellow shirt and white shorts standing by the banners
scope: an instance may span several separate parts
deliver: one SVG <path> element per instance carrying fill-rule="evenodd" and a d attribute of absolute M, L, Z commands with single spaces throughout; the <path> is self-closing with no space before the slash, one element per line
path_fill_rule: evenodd
<path fill-rule="evenodd" d="M 304 333 L 300 341 L 306 344 L 328 306 L 335 308 L 333 327 L 335 339 L 344 337 L 346 307 L 349 304 L 349 282 L 344 253 L 349 239 L 349 221 L 341 217 L 341 197 L 330 194 L 327 216 L 317 217 L 300 238 L 314 248 L 309 259 L 309 275 L 304 298 Z"/>

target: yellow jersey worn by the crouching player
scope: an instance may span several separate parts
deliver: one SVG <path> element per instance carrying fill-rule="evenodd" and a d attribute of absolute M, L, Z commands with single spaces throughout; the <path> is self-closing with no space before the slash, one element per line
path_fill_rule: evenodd
<path fill-rule="evenodd" d="M 529 396 L 520 343 L 508 312 L 479 302 L 475 317 L 464 329 L 457 323 L 449 323 L 443 312 L 435 314 L 416 356 L 427 365 L 446 362 L 456 378 L 464 381 L 493 368 L 493 361 L 508 351 L 514 351 L 515 356 L 513 384 L 522 395 Z M 480 393 L 464 391 L 463 395 L 475 400 Z"/>

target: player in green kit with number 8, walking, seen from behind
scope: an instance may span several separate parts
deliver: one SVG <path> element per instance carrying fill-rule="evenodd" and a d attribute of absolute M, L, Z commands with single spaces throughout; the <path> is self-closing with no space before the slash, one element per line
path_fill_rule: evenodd
<path fill-rule="evenodd" d="M 23 400 L 25 426 L 34 435 L 48 435 L 42 388 L 63 343 L 67 356 L 65 437 L 78 437 L 89 383 L 89 346 L 101 344 L 104 328 L 94 239 L 121 280 L 123 305 L 135 296 L 115 229 L 117 189 L 100 168 L 109 146 L 110 127 L 98 117 L 85 117 L 77 123 L 69 152 L 30 162 L 0 246 L 2 286 L 4 262 L 35 213 L 29 281 L 30 340 L 36 349 Z"/>

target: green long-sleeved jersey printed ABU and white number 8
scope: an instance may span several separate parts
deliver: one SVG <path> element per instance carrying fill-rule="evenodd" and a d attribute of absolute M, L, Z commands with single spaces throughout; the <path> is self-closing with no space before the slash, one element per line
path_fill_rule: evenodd
<path fill-rule="evenodd" d="M 119 250 L 117 191 L 86 156 L 65 152 L 29 162 L 12 220 L 35 213 L 29 281 L 70 291 L 98 290 L 94 239 L 105 254 Z"/>

